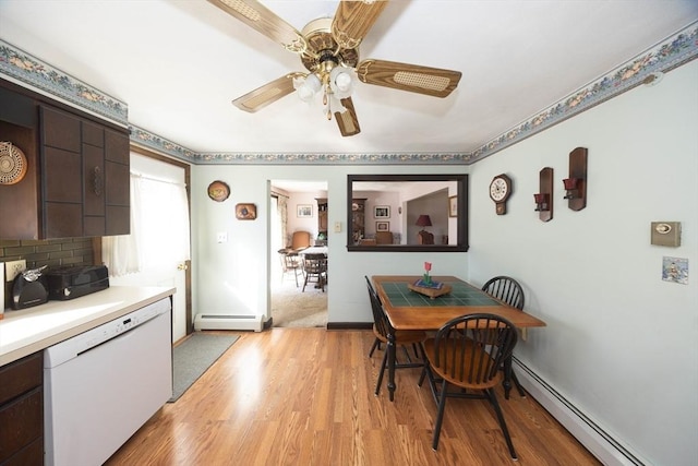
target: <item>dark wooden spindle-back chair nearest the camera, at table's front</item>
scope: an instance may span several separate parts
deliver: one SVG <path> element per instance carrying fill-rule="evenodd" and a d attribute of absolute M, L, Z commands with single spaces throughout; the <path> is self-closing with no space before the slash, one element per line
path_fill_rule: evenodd
<path fill-rule="evenodd" d="M 470 332 L 477 328 L 489 331 Z M 436 332 L 434 338 L 424 342 L 426 375 L 438 405 L 432 449 L 438 447 L 447 397 L 488 399 L 500 421 L 509 454 L 517 459 L 495 394 L 495 387 L 503 379 L 500 368 L 510 357 L 516 342 L 514 324 L 498 315 L 484 313 L 453 319 Z M 456 390 L 449 391 L 449 386 Z"/>

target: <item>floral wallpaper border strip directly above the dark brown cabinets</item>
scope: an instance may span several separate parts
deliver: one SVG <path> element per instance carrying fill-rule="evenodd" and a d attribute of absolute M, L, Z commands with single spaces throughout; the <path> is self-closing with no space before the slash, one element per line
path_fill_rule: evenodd
<path fill-rule="evenodd" d="M 0 39 L 0 74 L 60 97 L 123 127 L 129 124 L 129 107 L 125 103 L 83 83 L 2 39 Z"/>

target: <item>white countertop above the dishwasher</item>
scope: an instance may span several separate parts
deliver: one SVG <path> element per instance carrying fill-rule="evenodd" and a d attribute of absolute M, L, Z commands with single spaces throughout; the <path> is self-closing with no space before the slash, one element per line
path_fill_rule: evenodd
<path fill-rule="evenodd" d="M 171 296 L 174 288 L 111 286 L 68 301 L 48 301 L 0 320 L 0 366 Z"/>

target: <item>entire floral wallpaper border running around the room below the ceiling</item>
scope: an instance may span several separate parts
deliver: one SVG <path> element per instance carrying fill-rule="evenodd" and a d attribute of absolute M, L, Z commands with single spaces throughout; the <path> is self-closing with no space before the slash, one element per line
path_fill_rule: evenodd
<path fill-rule="evenodd" d="M 694 22 L 626 64 L 611 71 L 540 113 L 533 115 L 472 153 L 313 154 L 313 153 L 195 153 L 131 126 L 131 142 L 194 165 L 470 165 L 526 138 L 629 91 L 655 74 L 698 58 L 698 22 Z M 0 74 L 40 88 L 80 107 L 128 124 L 128 106 L 0 39 Z"/>

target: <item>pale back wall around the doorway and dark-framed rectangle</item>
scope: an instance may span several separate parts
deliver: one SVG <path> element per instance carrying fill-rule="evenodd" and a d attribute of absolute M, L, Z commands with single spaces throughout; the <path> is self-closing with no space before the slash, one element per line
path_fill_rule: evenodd
<path fill-rule="evenodd" d="M 328 225 L 340 222 L 341 232 L 328 232 L 329 322 L 372 322 L 364 275 L 422 273 L 424 261 L 433 274 L 468 274 L 465 252 L 347 252 L 347 175 L 462 174 L 464 166 L 194 166 L 192 167 L 192 299 L 194 313 L 269 315 L 268 180 L 327 182 Z M 214 180 L 230 186 L 225 202 L 208 199 Z M 237 203 L 254 203 L 257 219 L 237 220 Z M 291 206 L 291 208 L 294 208 Z M 294 215 L 294 213 L 291 213 Z M 372 215 L 371 215 L 372 216 Z M 317 223 L 316 218 L 312 220 Z M 372 219 L 371 219 L 372 220 Z M 226 231 L 228 242 L 218 243 Z M 278 258 L 274 255 L 273 261 Z"/>

